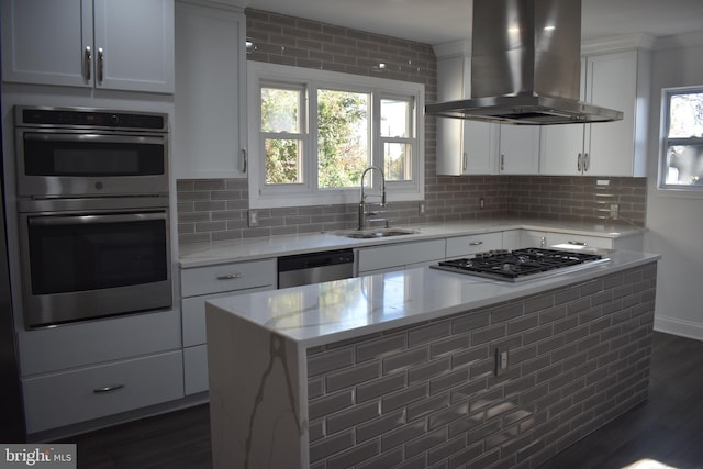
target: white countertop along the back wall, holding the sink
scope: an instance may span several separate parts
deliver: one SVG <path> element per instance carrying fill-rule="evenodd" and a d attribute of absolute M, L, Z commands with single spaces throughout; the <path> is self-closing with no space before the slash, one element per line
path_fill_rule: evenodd
<path fill-rule="evenodd" d="M 243 241 L 186 244 L 179 247 L 181 268 L 202 267 L 242 260 L 288 256 L 319 250 L 373 246 L 409 241 L 472 235 L 507 230 L 556 231 L 582 236 L 621 237 L 643 233 L 645 228 L 623 224 L 535 221 L 517 219 L 471 220 L 426 225 L 394 226 L 417 233 L 375 239 L 354 239 L 334 232 L 258 237 Z"/>

